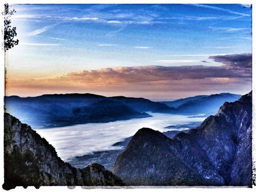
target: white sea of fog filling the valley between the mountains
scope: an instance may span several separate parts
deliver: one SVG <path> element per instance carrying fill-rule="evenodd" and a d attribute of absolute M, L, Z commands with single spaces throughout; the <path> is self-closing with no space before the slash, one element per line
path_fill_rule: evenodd
<path fill-rule="evenodd" d="M 75 156 L 83 156 L 92 152 L 120 149 L 113 146 L 118 141 L 133 136 L 140 128 L 148 127 L 160 132 L 170 130 L 185 130 L 175 127 L 204 121 L 204 117 L 189 117 L 185 115 L 152 114 L 152 117 L 129 119 L 107 123 L 79 124 L 67 127 L 55 127 L 36 130 L 57 150 L 58 156 L 64 161 Z M 193 127 L 195 128 L 195 127 Z"/>

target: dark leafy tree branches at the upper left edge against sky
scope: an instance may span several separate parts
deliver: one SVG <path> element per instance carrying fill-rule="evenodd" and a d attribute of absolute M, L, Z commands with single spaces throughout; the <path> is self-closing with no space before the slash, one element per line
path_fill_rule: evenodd
<path fill-rule="evenodd" d="M 10 10 L 8 4 L 4 4 L 4 51 L 11 49 L 14 45 L 18 45 L 18 39 L 14 40 L 14 37 L 17 36 L 16 27 L 11 27 L 11 15 L 16 12 L 15 10 Z"/>

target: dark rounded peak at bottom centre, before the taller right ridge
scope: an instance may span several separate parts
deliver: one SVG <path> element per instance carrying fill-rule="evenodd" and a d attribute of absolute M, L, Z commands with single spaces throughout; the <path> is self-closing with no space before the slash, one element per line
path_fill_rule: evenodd
<path fill-rule="evenodd" d="M 142 128 L 118 156 L 113 172 L 129 185 L 203 184 L 200 175 L 170 150 L 171 143 L 159 131 Z"/>

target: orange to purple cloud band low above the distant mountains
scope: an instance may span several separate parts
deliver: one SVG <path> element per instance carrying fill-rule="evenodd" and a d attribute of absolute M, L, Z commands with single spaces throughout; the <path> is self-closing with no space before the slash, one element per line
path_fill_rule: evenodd
<path fill-rule="evenodd" d="M 246 57 L 247 56 L 247 57 Z M 236 57 L 237 59 L 233 59 Z M 250 89 L 251 55 L 213 59 L 222 66 L 143 66 L 103 68 L 79 71 L 55 78 L 7 80 L 7 95 L 42 95 L 45 93 L 139 93 L 147 95 L 196 90 Z M 241 56 L 242 58 L 242 56 Z M 233 59 L 233 60 L 232 60 Z M 233 63 L 232 63 L 233 62 Z M 236 64 L 235 64 L 236 63 Z M 246 90 L 247 91 L 247 90 Z"/>

